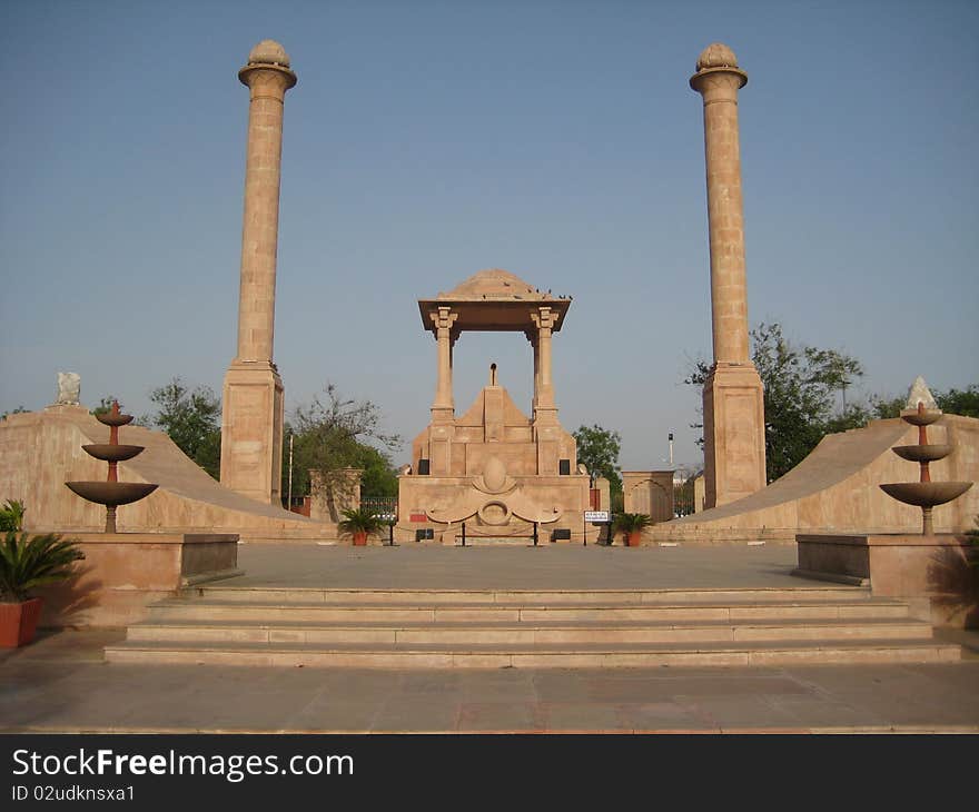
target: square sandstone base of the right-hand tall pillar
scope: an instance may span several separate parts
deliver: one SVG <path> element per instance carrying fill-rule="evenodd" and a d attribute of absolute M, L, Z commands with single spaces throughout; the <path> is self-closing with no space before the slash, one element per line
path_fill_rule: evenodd
<path fill-rule="evenodd" d="M 716 364 L 703 389 L 704 507 L 765 484 L 764 387 L 753 364 Z"/>

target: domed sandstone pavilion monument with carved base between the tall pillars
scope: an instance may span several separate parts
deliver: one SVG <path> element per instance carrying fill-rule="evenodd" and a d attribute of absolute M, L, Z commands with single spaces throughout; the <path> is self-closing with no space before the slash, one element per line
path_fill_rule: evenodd
<path fill-rule="evenodd" d="M 528 536 L 536 523 L 552 541 L 574 534 L 581 541 L 589 475 L 578 472 L 574 437 L 557 419 L 551 368 L 553 334 L 570 305 L 570 297 L 543 293 L 498 268 L 419 300 L 422 324 L 436 339 L 436 387 L 432 420 L 398 477 L 402 537 L 432 531 L 451 543 L 462 522 L 469 538 Z M 455 414 L 453 346 L 466 330 L 527 337 L 534 358 L 531 416 L 514 404 L 495 364 L 473 405 Z"/>

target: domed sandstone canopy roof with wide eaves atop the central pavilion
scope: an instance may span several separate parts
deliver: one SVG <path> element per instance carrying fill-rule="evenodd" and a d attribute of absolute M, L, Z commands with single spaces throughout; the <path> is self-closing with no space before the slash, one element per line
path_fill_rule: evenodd
<path fill-rule="evenodd" d="M 532 314 L 550 307 L 554 314 L 552 331 L 561 329 L 571 305 L 570 296 L 553 296 L 500 268 L 474 274 L 448 293 L 434 299 L 419 299 L 418 310 L 426 330 L 436 331 L 432 314 L 439 307 L 449 307 L 457 314 L 453 333 L 463 330 L 518 331 L 534 330 Z"/>

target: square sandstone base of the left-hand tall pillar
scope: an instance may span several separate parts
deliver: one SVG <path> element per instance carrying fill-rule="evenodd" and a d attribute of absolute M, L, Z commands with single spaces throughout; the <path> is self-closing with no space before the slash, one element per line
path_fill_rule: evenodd
<path fill-rule="evenodd" d="M 270 362 L 231 362 L 221 415 L 221 485 L 281 504 L 283 379 Z"/>

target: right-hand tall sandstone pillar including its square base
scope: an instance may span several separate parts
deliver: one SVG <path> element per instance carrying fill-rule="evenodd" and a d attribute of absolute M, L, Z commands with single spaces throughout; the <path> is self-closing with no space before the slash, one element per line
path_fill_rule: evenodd
<path fill-rule="evenodd" d="M 714 363 L 703 389 L 705 507 L 765 486 L 764 394 L 748 346 L 738 91 L 748 75 L 714 43 L 690 87 L 703 97 Z"/>

